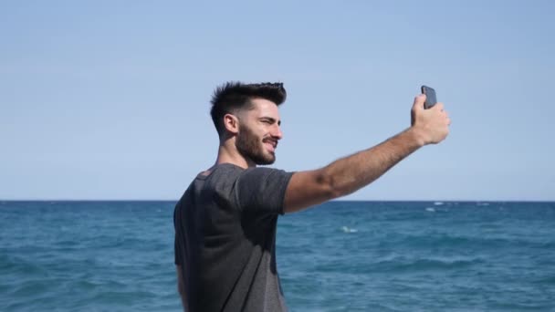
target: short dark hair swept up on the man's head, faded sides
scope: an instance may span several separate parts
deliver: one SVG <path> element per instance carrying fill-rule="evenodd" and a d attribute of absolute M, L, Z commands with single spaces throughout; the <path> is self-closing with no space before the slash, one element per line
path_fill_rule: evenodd
<path fill-rule="evenodd" d="M 287 98 L 283 83 L 253 83 L 244 84 L 229 81 L 215 89 L 212 96 L 210 115 L 214 121 L 215 130 L 221 136 L 224 133 L 225 114 L 234 114 L 241 109 L 252 109 L 251 99 L 267 99 L 282 104 Z"/>

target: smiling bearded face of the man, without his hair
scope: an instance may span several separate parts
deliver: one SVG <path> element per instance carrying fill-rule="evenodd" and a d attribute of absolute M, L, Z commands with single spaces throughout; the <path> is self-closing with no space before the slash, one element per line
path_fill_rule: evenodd
<path fill-rule="evenodd" d="M 278 106 L 267 99 L 252 99 L 252 104 L 253 109 L 246 110 L 239 119 L 236 149 L 247 161 L 272 164 L 278 140 L 283 137 Z"/>

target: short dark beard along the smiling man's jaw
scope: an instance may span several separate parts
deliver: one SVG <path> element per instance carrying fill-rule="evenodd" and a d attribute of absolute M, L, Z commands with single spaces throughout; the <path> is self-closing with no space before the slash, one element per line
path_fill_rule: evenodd
<path fill-rule="evenodd" d="M 266 152 L 262 140 L 258 139 L 246 125 L 241 126 L 241 131 L 237 135 L 236 148 L 243 157 L 254 161 L 257 165 L 268 165 L 276 161 L 276 155 Z"/>

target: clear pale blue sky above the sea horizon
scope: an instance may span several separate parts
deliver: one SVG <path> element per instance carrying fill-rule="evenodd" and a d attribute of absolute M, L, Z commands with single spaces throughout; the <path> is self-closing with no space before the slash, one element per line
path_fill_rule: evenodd
<path fill-rule="evenodd" d="M 274 167 L 453 121 L 351 200 L 555 200 L 555 2 L 3 1 L 0 199 L 177 200 L 215 161 L 227 80 L 281 81 Z"/>

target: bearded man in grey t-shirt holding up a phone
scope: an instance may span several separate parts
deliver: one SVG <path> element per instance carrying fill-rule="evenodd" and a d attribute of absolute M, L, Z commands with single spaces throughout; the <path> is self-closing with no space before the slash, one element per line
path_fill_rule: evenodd
<path fill-rule="evenodd" d="M 355 192 L 397 162 L 448 134 L 442 103 L 414 99 L 411 127 L 366 151 L 306 172 L 257 165 L 276 160 L 283 134 L 280 83 L 226 83 L 211 115 L 220 145 L 175 206 L 175 265 L 187 311 L 287 310 L 276 269 L 278 215 Z"/>

